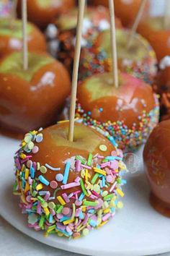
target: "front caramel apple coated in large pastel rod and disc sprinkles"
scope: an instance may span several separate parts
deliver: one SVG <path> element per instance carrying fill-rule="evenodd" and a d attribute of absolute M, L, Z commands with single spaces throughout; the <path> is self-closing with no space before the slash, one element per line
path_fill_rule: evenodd
<path fill-rule="evenodd" d="M 122 151 L 83 124 L 75 124 L 73 142 L 68 121 L 27 133 L 14 161 L 22 213 L 46 236 L 86 236 L 122 208 Z"/>

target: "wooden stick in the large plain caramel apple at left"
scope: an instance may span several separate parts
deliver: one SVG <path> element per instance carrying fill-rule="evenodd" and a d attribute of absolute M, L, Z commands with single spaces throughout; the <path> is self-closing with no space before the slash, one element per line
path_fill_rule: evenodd
<path fill-rule="evenodd" d="M 22 0 L 23 69 L 28 69 L 27 49 L 27 0 Z"/>

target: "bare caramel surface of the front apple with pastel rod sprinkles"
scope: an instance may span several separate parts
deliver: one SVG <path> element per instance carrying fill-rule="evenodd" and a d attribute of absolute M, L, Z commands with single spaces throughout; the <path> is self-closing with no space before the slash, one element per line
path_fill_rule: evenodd
<path fill-rule="evenodd" d="M 42 130 L 42 135 L 42 142 L 37 143 L 39 152 L 32 157 L 32 161 L 39 162 L 43 166 L 45 166 L 45 163 L 48 163 L 50 166 L 59 167 L 61 168 L 61 171 L 59 171 L 61 174 L 64 173 L 66 161 L 71 161 L 71 158 L 76 157 L 76 155 L 81 155 L 87 159 L 89 153 L 93 155 L 99 153 L 107 156 L 110 155 L 112 150 L 115 150 L 113 145 L 103 135 L 83 124 L 75 123 L 73 142 L 68 141 L 68 121 Z M 99 150 L 100 145 L 106 145 L 107 150 L 105 152 Z M 89 174 L 92 174 L 91 176 L 93 176 L 93 173 L 94 171 L 92 169 L 89 170 Z M 49 170 L 43 176 L 50 182 L 55 180 L 56 174 L 58 174 L 56 171 Z M 40 173 L 37 172 L 37 176 L 39 175 Z M 77 176 L 80 176 L 79 172 L 70 171 L 67 183 L 73 182 Z M 61 185 L 62 182 L 58 182 L 58 187 Z M 66 191 L 69 194 L 77 189 L 78 187 L 73 187 Z M 50 191 L 51 195 L 53 195 L 53 189 L 50 186 L 47 189 L 44 186 L 44 190 Z M 58 195 L 62 193 L 62 189 L 61 192 L 58 191 Z"/>

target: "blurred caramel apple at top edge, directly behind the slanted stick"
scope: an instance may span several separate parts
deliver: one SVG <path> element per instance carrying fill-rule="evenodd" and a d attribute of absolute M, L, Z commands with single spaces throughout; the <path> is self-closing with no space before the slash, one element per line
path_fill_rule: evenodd
<path fill-rule="evenodd" d="M 107 0 L 91 0 L 90 4 L 99 5 L 102 4 L 105 7 L 108 7 Z M 138 9 L 140 7 L 141 0 L 116 0 L 115 1 L 115 15 L 120 18 L 122 21 L 122 25 L 128 27 L 133 24 L 136 14 L 138 13 Z M 145 12 L 148 12 L 149 2 L 147 1 Z"/>

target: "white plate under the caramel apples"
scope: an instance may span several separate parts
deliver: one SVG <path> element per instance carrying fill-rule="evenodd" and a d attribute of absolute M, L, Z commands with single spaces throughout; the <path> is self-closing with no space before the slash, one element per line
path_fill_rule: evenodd
<path fill-rule="evenodd" d="M 16 229 L 52 247 L 86 255 L 153 255 L 170 251 L 170 220 L 151 208 L 149 189 L 143 171 L 128 176 L 124 187 L 125 207 L 106 226 L 89 236 L 70 240 L 27 228 L 26 216 L 20 213 L 18 197 L 12 195 L 13 155 L 19 142 L 0 136 L 0 214 Z M 141 153 L 140 153 L 141 154 Z"/>

